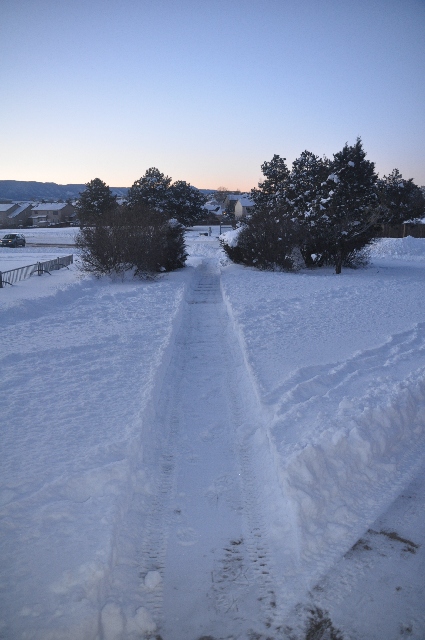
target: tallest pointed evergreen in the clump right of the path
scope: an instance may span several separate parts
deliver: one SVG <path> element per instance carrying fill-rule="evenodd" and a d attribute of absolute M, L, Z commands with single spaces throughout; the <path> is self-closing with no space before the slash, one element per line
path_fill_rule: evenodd
<path fill-rule="evenodd" d="M 326 197 L 316 204 L 322 212 L 321 216 L 319 211 L 316 213 L 320 237 L 326 238 L 327 261 L 335 265 L 336 273 L 341 273 L 342 265 L 349 263 L 375 235 L 379 219 L 377 174 L 374 163 L 365 157 L 360 138 L 353 146 L 345 144 L 342 151 L 334 154 Z"/>

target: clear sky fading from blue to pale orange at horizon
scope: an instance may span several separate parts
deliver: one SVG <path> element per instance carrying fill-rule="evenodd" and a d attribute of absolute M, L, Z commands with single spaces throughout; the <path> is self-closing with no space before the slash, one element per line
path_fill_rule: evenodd
<path fill-rule="evenodd" d="M 425 0 L 0 0 L 0 179 L 249 190 L 361 136 L 425 184 Z"/>

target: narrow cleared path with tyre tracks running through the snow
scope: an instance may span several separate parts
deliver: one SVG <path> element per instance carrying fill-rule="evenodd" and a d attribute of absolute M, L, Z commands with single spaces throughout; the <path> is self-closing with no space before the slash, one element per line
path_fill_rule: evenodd
<path fill-rule="evenodd" d="M 142 463 L 152 471 L 123 526 L 106 639 L 265 638 L 279 626 L 260 489 L 274 466 L 232 331 L 217 261 L 204 259 L 156 400 Z"/>

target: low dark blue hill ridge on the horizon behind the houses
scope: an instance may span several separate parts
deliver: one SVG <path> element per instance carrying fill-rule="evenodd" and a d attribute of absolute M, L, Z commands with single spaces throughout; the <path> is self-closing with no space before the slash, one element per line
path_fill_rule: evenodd
<path fill-rule="evenodd" d="M 56 182 L 35 182 L 26 180 L 0 180 L 0 200 L 75 200 L 85 184 L 56 184 Z M 128 187 L 111 187 L 114 195 L 125 197 Z M 209 195 L 213 189 L 200 189 Z"/>

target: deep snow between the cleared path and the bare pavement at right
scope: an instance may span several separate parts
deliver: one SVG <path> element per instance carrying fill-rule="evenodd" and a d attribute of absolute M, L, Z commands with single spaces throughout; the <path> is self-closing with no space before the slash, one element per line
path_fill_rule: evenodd
<path fill-rule="evenodd" d="M 406 264 L 412 253 L 423 259 L 425 241 L 410 240 L 377 243 L 385 268 L 375 257 L 342 276 L 223 272 L 287 505 L 280 544 L 296 555 L 293 577 L 305 588 L 423 460 L 425 278 Z M 394 255 L 403 260 L 391 262 Z"/>

